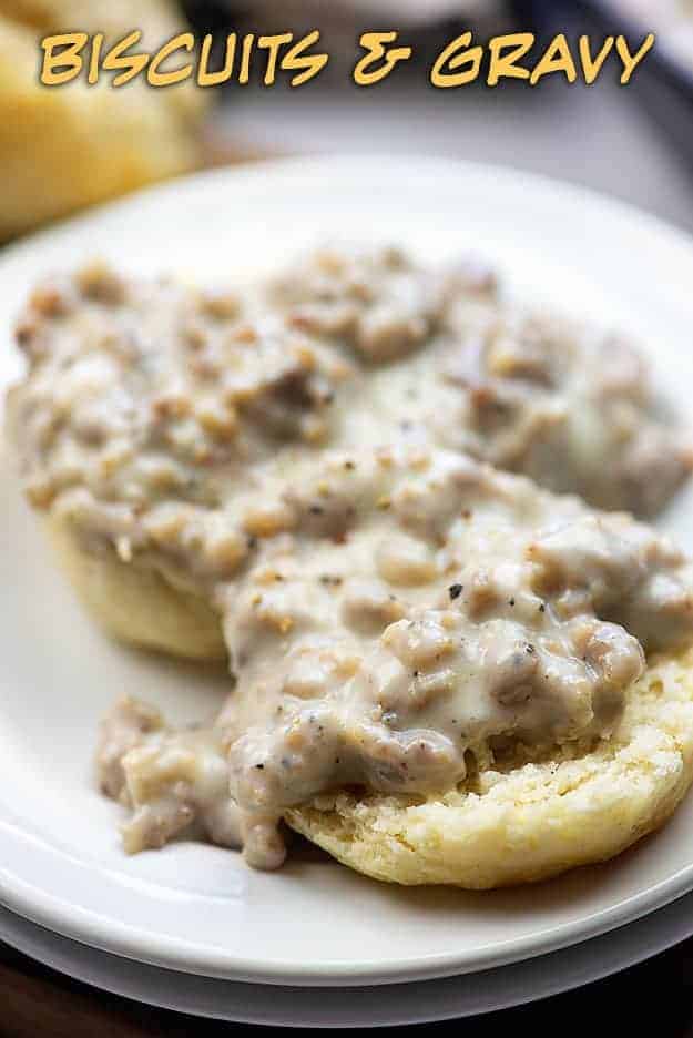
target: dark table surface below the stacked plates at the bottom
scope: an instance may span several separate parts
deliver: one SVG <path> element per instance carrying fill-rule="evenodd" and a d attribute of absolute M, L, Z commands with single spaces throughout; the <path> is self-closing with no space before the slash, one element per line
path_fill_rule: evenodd
<path fill-rule="evenodd" d="M 519 1028 L 520 1034 L 529 1029 L 533 1036 L 560 1036 L 571 1024 L 592 1028 L 595 1035 L 611 1027 L 642 1035 L 653 1014 L 658 1038 L 693 1036 L 693 939 L 589 987 L 467 1019 L 457 1027 L 465 1038 L 495 1035 L 508 1027 L 511 1032 Z M 426 1035 L 436 1030 L 442 1035 L 445 1026 L 390 1028 L 387 1034 L 421 1034 L 426 1028 Z M 1 1038 L 212 1038 L 242 1027 L 258 1035 L 287 1034 L 279 1028 L 247 1028 L 153 1009 L 71 980 L 0 945 Z"/>

